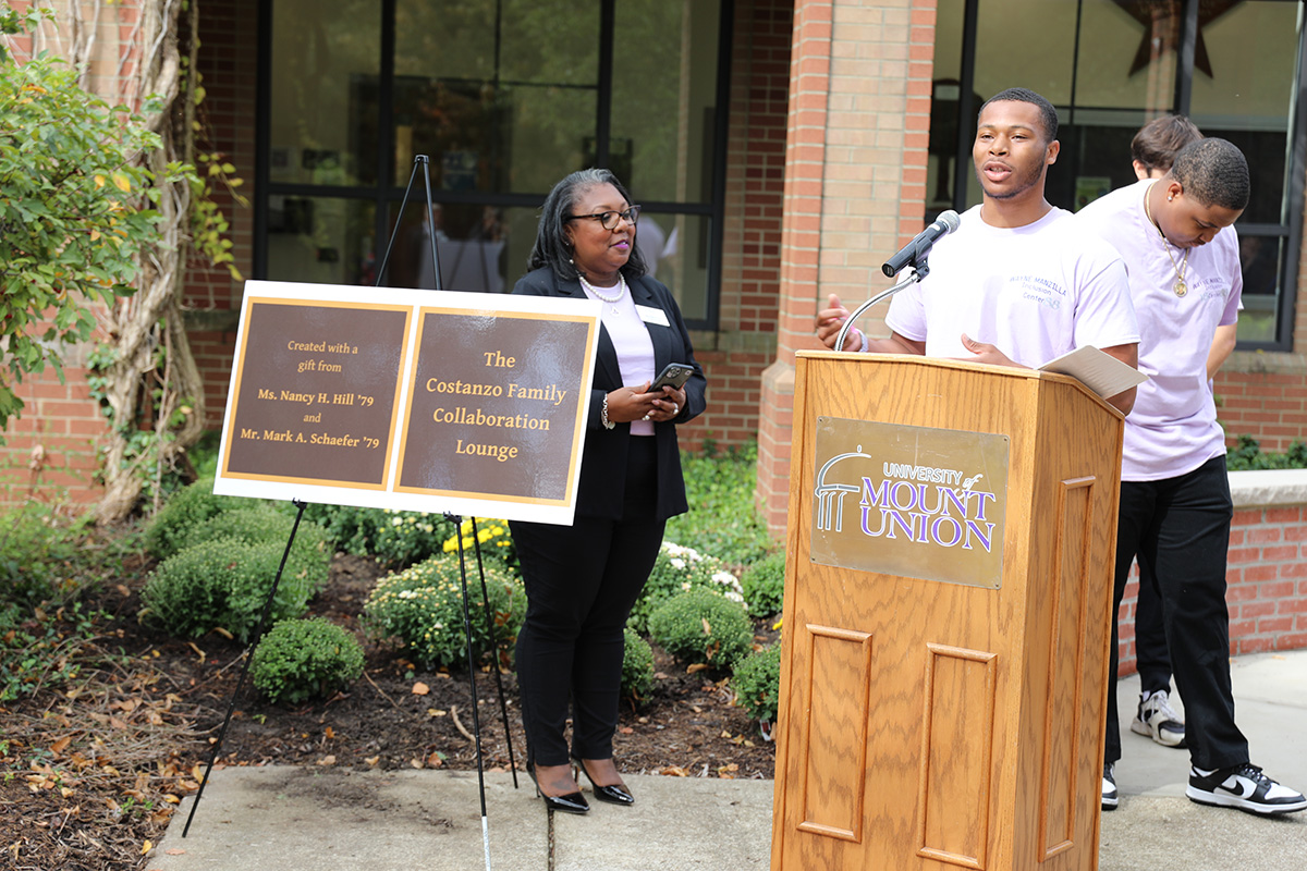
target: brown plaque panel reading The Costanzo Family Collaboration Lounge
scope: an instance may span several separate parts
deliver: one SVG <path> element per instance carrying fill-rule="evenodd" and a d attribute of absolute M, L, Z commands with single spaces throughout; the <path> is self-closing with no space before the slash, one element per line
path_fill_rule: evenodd
<path fill-rule="evenodd" d="M 570 501 L 595 337 L 583 317 L 423 308 L 396 491 Z"/>

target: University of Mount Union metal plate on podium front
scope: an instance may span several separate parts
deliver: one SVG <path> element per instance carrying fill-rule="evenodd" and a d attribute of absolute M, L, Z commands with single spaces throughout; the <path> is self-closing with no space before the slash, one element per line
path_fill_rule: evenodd
<path fill-rule="evenodd" d="M 812 560 L 999 589 L 1008 436 L 817 418 Z"/>

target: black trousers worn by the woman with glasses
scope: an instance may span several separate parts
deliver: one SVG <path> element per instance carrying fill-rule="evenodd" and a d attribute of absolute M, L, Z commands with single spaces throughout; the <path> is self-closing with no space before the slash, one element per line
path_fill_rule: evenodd
<path fill-rule="evenodd" d="M 571 526 L 512 522 L 527 588 L 518 635 L 518 688 L 527 747 L 540 765 L 571 751 L 609 759 L 622 683 L 623 628 L 663 542 L 654 512 L 654 439 L 631 436 L 621 520 L 578 516 Z"/>

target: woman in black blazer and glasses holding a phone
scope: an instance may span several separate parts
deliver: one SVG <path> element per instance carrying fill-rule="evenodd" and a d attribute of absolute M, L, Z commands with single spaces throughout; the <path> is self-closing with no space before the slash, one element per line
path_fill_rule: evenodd
<path fill-rule="evenodd" d="M 635 800 L 613 763 L 622 629 L 667 518 L 686 511 L 676 424 L 704 407 L 703 370 L 681 311 L 670 291 L 646 276 L 635 248 L 638 217 L 639 206 L 612 172 L 572 172 L 545 200 L 532 272 L 512 289 L 603 306 L 575 520 L 511 524 L 528 599 L 518 635 L 527 765 L 548 807 L 572 814 L 589 806 L 569 757 L 586 772 L 595 798 Z M 668 363 L 694 372 L 681 388 L 651 390 Z"/>

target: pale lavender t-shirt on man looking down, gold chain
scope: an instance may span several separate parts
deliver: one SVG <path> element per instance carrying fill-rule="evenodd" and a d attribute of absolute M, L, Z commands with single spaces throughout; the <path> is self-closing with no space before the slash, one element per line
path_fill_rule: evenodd
<path fill-rule="evenodd" d="M 1208 350 L 1217 325 L 1239 320 L 1243 272 L 1233 229 L 1184 252 L 1162 239 L 1144 213 L 1145 180 L 1114 191 L 1076 214 L 1125 259 L 1140 319 L 1140 385 L 1125 418 L 1123 481 L 1161 481 L 1193 471 L 1225 453 L 1208 388 Z M 1170 256 L 1167 256 L 1170 255 Z M 1178 265 L 1184 296 L 1175 293 Z"/>

